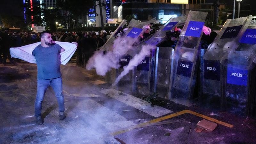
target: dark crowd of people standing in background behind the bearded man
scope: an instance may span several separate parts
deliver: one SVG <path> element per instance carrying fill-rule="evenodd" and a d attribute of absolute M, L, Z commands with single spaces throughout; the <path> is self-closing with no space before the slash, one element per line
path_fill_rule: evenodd
<path fill-rule="evenodd" d="M 23 31 L 4 30 L 0 31 L 0 64 L 18 61 L 11 58 L 10 48 L 40 42 L 40 33 Z M 77 64 L 81 65 L 82 55 L 86 60 L 92 56 L 93 52 L 106 42 L 106 31 L 102 32 L 53 32 L 52 40 L 60 42 L 77 42 Z"/>

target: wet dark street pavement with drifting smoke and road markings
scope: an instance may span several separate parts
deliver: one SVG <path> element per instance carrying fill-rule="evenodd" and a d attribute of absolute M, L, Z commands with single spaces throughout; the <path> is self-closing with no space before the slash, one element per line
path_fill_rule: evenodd
<path fill-rule="evenodd" d="M 67 117 L 58 119 L 58 104 L 49 88 L 42 115 L 34 118 L 36 64 L 24 61 L 0 65 L 0 143 L 183 144 L 256 143 L 256 119 L 219 112 L 200 105 L 186 107 L 159 98 L 151 107 L 145 95 L 118 90 L 94 70 L 61 66 Z M 217 123 L 212 132 L 196 132 L 203 119 Z"/>

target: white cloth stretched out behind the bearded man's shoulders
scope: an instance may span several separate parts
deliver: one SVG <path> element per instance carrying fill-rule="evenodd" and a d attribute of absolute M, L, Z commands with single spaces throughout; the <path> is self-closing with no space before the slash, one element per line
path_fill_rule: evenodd
<path fill-rule="evenodd" d="M 60 53 L 60 60 L 62 65 L 66 65 L 66 63 L 68 63 L 68 61 L 71 59 L 72 55 L 76 52 L 76 44 L 58 41 L 52 41 L 52 43 L 59 44 L 65 50 L 64 52 Z M 16 48 L 10 48 L 11 56 L 12 58 L 18 58 L 28 61 L 30 63 L 36 63 L 36 58 L 32 55 L 32 52 L 39 44 L 41 44 L 41 42 L 28 44 Z"/>

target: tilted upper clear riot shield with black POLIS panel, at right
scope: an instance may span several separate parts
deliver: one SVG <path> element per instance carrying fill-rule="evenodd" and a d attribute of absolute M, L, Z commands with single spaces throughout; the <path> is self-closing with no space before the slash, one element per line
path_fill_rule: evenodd
<path fill-rule="evenodd" d="M 220 60 L 222 64 L 227 66 L 227 59 L 239 55 L 238 53 L 243 53 L 234 51 L 236 51 L 239 46 L 239 40 L 249 26 L 251 20 L 251 15 L 234 20 L 228 19 L 220 29 L 215 40 L 209 45 L 204 54 L 204 60 Z M 239 50 L 237 49 L 237 51 Z"/>

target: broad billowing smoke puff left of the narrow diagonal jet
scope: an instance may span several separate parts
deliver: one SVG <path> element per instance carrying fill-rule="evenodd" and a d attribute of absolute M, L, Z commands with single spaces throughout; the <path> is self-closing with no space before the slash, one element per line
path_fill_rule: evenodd
<path fill-rule="evenodd" d="M 119 57 L 125 55 L 132 48 L 133 43 L 134 38 L 132 37 L 117 37 L 114 40 L 114 44 L 109 45 L 108 51 L 105 53 L 103 51 L 94 52 L 86 64 L 86 69 L 95 68 L 98 75 L 104 76 L 111 68 L 119 68 Z M 108 46 L 108 44 L 104 46 Z"/>

